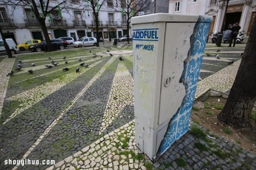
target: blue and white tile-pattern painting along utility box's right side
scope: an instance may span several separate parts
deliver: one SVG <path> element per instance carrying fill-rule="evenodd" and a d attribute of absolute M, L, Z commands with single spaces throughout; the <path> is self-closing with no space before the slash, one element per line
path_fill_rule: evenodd
<path fill-rule="evenodd" d="M 180 82 L 186 88 L 186 96 L 175 116 L 169 122 L 168 129 L 160 144 L 157 156 L 162 155 L 176 140 L 189 130 L 189 119 L 194 102 L 196 83 L 198 82 L 200 68 L 203 60 L 204 48 L 207 42 L 209 26 L 212 19 L 199 16 L 192 36 L 188 59 L 184 62 L 183 74 Z"/>

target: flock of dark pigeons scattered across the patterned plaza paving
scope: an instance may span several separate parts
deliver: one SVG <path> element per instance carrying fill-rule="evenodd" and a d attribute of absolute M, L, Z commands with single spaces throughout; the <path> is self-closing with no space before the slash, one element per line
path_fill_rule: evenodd
<path fill-rule="evenodd" d="M 89 50 L 89 52 L 91 53 L 91 50 Z M 107 50 L 107 52 L 110 52 L 110 51 Z M 109 55 L 110 55 L 111 57 L 113 57 L 113 54 L 109 53 Z M 95 58 L 95 57 L 99 57 L 99 55 L 96 54 L 96 53 L 93 53 L 93 58 Z M 102 58 L 103 56 L 101 55 L 100 57 Z M 52 57 L 48 57 L 48 59 L 49 59 L 49 60 L 52 60 Z M 63 57 L 63 59 L 64 59 L 65 64 L 67 64 L 68 62 L 67 62 L 65 56 Z M 119 57 L 119 60 L 120 60 L 120 61 L 124 61 L 124 59 L 122 59 L 122 57 Z M 80 59 L 78 59 L 78 61 L 81 62 L 82 59 L 80 58 Z M 22 61 L 21 61 L 21 60 L 18 60 L 17 62 L 18 62 L 17 68 L 15 68 L 15 70 L 20 71 L 20 70 L 22 69 L 22 65 L 21 65 Z M 54 62 L 54 61 L 52 60 L 52 64 L 48 64 L 48 65 L 44 65 L 44 66 L 47 67 L 47 68 L 52 68 L 52 66 L 58 66 L 58 64 L 59 64 L 58 62 Z M 85 68 L 88 68 L 88 67 L 90 66 L 90 64 L 86 64 L 86 65 L 84 65 L 84 64 L 85 64 L 85 62 L 82 62 L 82 63 L 79 64 L 79 65 L 80 65 L 80 66 L 84 66 Z M 31 63 L 31 66 L 32 66 L 32 67 L 35 67 L 35 63 Z M 63 68 L 62 70 L 63 70 L 63 71 L 69 71 L 69 68 L 65 67 L 65 68 Z M 76 68 L 76 73 L 79 73 L 79 71 L 80 71 L 80 68 Z M 33 70 L 28 70 L 28 72 L 29 72 L 30 74 L 33 74 Z M 10 71 L 6 76 L 12 76 L 13 74 L 14 74 L 14 72 L 13 72 L 13 71 Z"/>

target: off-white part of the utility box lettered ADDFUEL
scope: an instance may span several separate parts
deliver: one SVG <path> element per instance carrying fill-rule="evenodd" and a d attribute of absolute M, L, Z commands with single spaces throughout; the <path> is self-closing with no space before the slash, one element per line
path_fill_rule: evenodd
<path fill-rule="evenodd" d="M 204 23 L 205 18 L 209 19 L 209 25 L 211 17 L 201 16 L 158 13 L 131 18 L 134 50 L 135 140 L 140 150 L 150 159 L 155 159 L 157 156 L 160 145 L 163 145 L 163 139 L 169 141 L 170 135 L 166 133 L 171 126 L 175 128 L 171 131 L 177 134 L 175 130 L 178 128 L 178 123 L 174 126 L 170 120 L 174 117 L 177 119 L 182 117 L 182 114 L 177 115 L 177 112 L 186 105 L 184 100 L 190 93 L 189 88 L 192 84 L 187 84 L 182 77 L 187 76 L 184 70 L 192 58 L 189 57 L 191 51 L 203 48 L 203 51 L 200 49 L 200 54 L 196 54 L 197 58 L 204 53 L 206 39 L 198 40 L 195 49 L 192 49 L 192 39 L 193 35 L 197 34 L 195 32 L 197 23 L 201 20 L 203 20 L 201 23 Z M 207 29 L 209 30 L 206 28 L 202 34 L 198 33 L 201 34 L 198 37 L 202 37 L 205 32 L 208 34 Z M 196 76 L 199 76 L 199 72 Z M 186 127 L 183 124 L 181 126 Z M 167 143 L 170 146 L 170 143 Z M 165 142 L 162 150 L 166 150 L 165 147 L 169 147 L 167 145 Z"/>

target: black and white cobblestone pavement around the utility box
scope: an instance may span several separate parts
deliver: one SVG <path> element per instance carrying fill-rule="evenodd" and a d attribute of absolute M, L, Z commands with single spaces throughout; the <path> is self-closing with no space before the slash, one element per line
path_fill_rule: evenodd
<path fill-rule="evenodd" d="M 207 45 L 196 96 L 209 88 L 229 90 L 243 49 L 243 44 L 236 48 Z M 60 66 L 51 69 L 44 67 L 48 57 L 20 56 L 16 60 L 23 60 L 23 71 L 15 71 L 10 79 L 5 74 L 12 65 L 16 67 L 15 59 L 0 62 L 5 66 L 0 67 L 1 77 L 7 78 L 0 84 L 0 169 L 256 169 L 255 154 L 196 125 L 156 162 L 149 161 L 134 141 L 131 46 L 91 48 L 99 55 L 95 58 L 89 48 L 82 50 L 83 55 L 76 55 L 75 49 L 70 55 L 66 51 L 67 65 L 64 53 L 52 53 Z M 107 50 L 116 52 L 110 57 Z M 119 61 L 121 56 L 124 61 Z M 79 66 L 78 59 L 90 67 Z M 228 65 L 232 60 L 235 63 Z M 31 62 L 37 63 L 32 75 L 26 72 Z M 65 66 L 70 71 L 62 71 Z M 49 159 L 55 164 L 5 165 L 8 159 Z"/>

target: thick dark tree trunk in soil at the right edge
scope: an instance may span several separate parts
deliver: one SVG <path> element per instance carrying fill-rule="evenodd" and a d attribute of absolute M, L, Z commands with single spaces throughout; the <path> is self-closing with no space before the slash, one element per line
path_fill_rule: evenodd
<path fill-rule="evenodd" d="M 218 119 L 236 128 L 252 127 L 250 114 L 256 101 L 256 18 L 226 105 Z"/>

